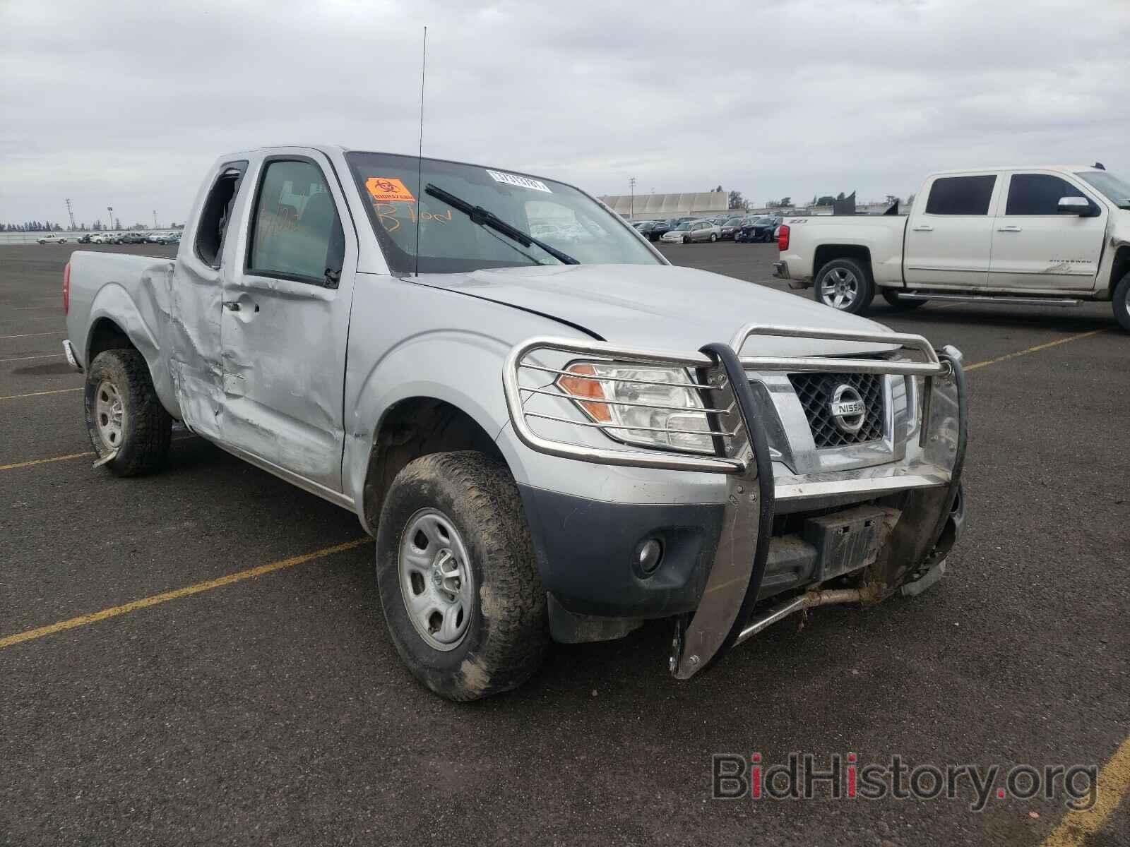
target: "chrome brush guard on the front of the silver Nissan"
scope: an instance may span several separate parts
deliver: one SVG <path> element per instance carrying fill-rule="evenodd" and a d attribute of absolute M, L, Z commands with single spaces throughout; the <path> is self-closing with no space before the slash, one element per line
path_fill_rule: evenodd
<path fill-rule="evenodd" d="M 921 355 L 921 361 L 888 360 L 880 358 L 823 358 L 823 357 L 772 357 L 739 356 L 746 342 L 753 337 L 789 337 L 814 339 L 820 341 L 855 341 L 877 344 L 897 346 L 906 351 Z M 606 435 L 616 438 L 617 430 L 644 430 L 650 427 L 609 426 L 606 422 L 584 420 L 574 408 L 573 417 L 566 414 L 547 414 L 531 411 L 527 405 L 531 398 L 548 395 L 559 400 L 575 401 L 575 398 L 560 391 L 556 381 L 560 376 L 593 382 L 636 382 L 641 384 L 664 385 L 670 383 L 653 382 L 636 378 L 614 378 L 599 375 L 583 375 L 566 370 L 567 363 L 560 367 L 550 367 L 536 360 L 536 355 L 553 353 L 579 355 L 585 361 L 615 363 L 617 365 L 640 365 L 644 367 L 684 368 L 687 382 L 678 384 L 688 391 L 698 393 L 702 407 L 695 409 L 703 412 L 709 429 L 670 429 L 657 428 L 671 434 L 709 435 L 714 444 L 712 455 L 680 452 L 675 448 L 636 447 L 628 449 L 592 446 L 591 444 L 570 443 L 558 438 L 539 435 L 531 426 L 531 420 L 542 420 L 558 428 L 567 426 L 603 430 Z M 923 413 L 921 419 L 921 438 L 927 438 L 928 425 L 936 428 L 935 418 L 929 410 L 935 393 L 935 382 L 938 378 L 954 385 L 953 409 L 938 410 L 950 417 L 947 420 L 962 419 L 957 409 L 964 407 L 964 392 L 959 377 L 960 355 L 944 350 L 939 358 L 933 347 L 921 335 L 892 332 L 844 332 L 818 330 L 799 326 L 774 326 L 749 324 L 741 328 L 729 344 L 710 343 L 696 352 L 677 352 L 669 350 L 644 350 L 629 347 L 618 347 L 598 341 L 576 341 L 564 338 L 532 338 L 514 347 L 506 358 L 503 370 L 503 388 L 511 422 L 519 439 L 531 449 L 564 459 L 597 464 L 625 465 L 634 468 L 654 468 L 675 471 L 697 471 L 727 474 L 727 499 L 722 533 L 719 539 L 714 561 L 703 591 L 698 608 L 690 615 L 677 619 L 675 641 L 670 657 L 671 672 L 678 679 L 689 679 L 698 671 L 710 666 L 738 643 L 741 630 L 749 619 L 754 604 L 757 602 L 762 576 L 768 556 L 770 538 L 773 527 L 775 507 L 775 488 L 773 466 L 766 439 L 765 422 L 759 418 L 759 409 L 753 388 L 749 385 L 753 372 L 823 372 L 823 373 L 866 373 L 896 374 L 903 376 L 923 377 L 925 381 Z M 551 376 L 549 384 L 542 378 L 537 385 L 522 383 L 522 375 L 542 374 Z M 756 377 L 754 377 L 756 378 Z M 527 379 L 529 383 L 529 378 Z M 947 398 L 950 399 L 950 398 Z M 585 398 L 584 402 L 607 403 L 609 405 L 645 405 L 649 408 L 687 411 L 688 407 L 641 404 L 632 401 L 618 401 L 599 398 Z M 947 405 L 947 404 L 939 404 Z M 956 416 L 956 417 L 955 417 Z M 615 420 L 612 421 L 616 422 Z M 933 454 L 945 451 L 951 454 L 951 461 L 945 461 L 933 466 L 937 473 L 932 475 L 912 475 L 902 478 L 897 483 L 892 479 L 868 480 L 857 490 L 873 490 L 886 494 L 899 487 L 907 488 L 922 484 L 950 484 L 956 491 L 956 472 L 959 472 L 959 453 L 964 453 L 964 427 L 959 427 L 959 438 L 941 439 L 942 445 L 936 445 Z M 937 434 L 930 436 L 938 440 Z M 591 440 L 591 439 L 590 439 Z M 942 464 L 945 468 L 942 469 Z M 888 477 L 898 474 L 902 469 L 888 469 Z M 955 473 L 951 473 L 955 472 Z M 816 484 L 834 484 L 823 478 L 836 474 L 822 474 Z M 905 480 L 905 481 L 904 481 Z M 794 486 L 796 487 L 796 486 Z M 823 489 L 822 489 L 823 490 Z M 940 527 L 939 527 L 940 532 Z"/>

